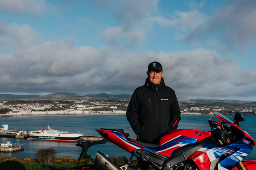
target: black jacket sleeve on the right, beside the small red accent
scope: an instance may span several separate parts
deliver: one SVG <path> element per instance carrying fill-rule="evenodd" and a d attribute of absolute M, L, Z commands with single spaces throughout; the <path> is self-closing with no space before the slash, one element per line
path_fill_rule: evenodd
<path fill-rule="evenodd" d="M 170 131 L 177 129 L 178 125 L 179 125 L 179 121 L 181 119 L 180 117 L 180 106 L 177 100 L 177 97 L 174 93 L 174 97 L 173 97 L 173 103 L 170 107 L 170 122 L 169 122 L 169 128 Z"/>

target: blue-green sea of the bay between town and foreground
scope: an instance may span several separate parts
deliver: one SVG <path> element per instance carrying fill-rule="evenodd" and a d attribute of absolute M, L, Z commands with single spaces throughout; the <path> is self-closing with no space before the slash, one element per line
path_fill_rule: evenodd
<path fill-rule="evenodd" d="M 210 126 L 208 120 L 211 115 L 181 115 L 181 121 L 179 123 L 180 129 L 195 129 L 209 131 Z M 228 115 L 231 121 L 234 116 Z M 240 122 L 240 127 L 249 133 L 256 141 L 256 116 L 244 116 L 245 121 Z M 13 116 L 13 117 L 1 117 L 0 125 L 8 124 L 9 130 L 41 130 L 47 129 L 49 125 L 54 130 L 64 130 L 71 133 L 82 133 L 84 135 L 99 136 L 99 133 L 95 129 L 108 128 L 108 129 L 123 129 L 125 133 L 129 133 L 129 138 L 136 138 L 136 134 L 130 128 L 130 124 L 126 119 L 126 115 L 37 115 L 37 116 Z M 14 145 L 24 144 L 24 150 L 17 152 L 0 152 L 0 156 L 3 157 L 18 157 L 18 158 L 34 158 L 35 152 L 41 148 L 55 148 L 57 150 L 56 157 L 65 158 L 79 158 L 81 153 L 81 147 L 76 146 L 76 142 L 64 142 L 64 141 L 41 141 L 41 140 L 27 140 L 16 139 L 8 137 L 0 137 L 0 143 L 2 141 L 11 141 Z M 244 160 L 256 160 L 256 148 L 251 151 Z M 107 156 L 125 156 L 130 158 L 131 154 L 125 150 L 122 150 L 115 144 L 99 144 L 90 147 L 87 154 L 90 154 L 92 158 L 95 158 L 96 152 Z"/>

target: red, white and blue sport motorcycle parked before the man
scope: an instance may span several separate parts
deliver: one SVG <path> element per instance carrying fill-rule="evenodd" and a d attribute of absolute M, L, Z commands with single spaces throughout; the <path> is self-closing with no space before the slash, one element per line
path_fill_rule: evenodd
<path fill-rule="evenodd" d="M 253 138 L 239 126 L 244 117 L 236 112 L 233 121 L 214 112 L 208 121 L 210 131 L 173 130 L 164 135 L 159 144 L 128 138 L 124 130 L 96 129 L 102 140 L 76 144 L 82 149 L 77 166 L 90 147 L 112 142 L 130 152 L 131 157 L 123 157 L 125 165 L 119 166 L 98 151 L 96 169 L 131 170 L 131 164 L 144 160 L 156 170 L 256 170 L 256 161 L 242 161 L 255 145 Z M 136 160 L 132 159 L 134 156 Z"/>

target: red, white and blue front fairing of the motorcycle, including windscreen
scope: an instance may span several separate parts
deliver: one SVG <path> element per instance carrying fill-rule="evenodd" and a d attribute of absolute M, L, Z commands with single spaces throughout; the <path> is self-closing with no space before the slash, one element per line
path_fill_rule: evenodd
<path fill-rule="evenodd" d="M 221 123 L 211 120 L 216 117 Z M 218 160 L 218 170 L 230 170 L 235 167 L 245 156 L 250 153 L 255 144 L 253 138 L 239 127 L 239 124 L 234 124 L 228 118 L 215 112 L 209 119 L 211 127 L 216 128 L 221 124 L 229 124 L 229 130 L 240 132 L 240 140 L 224 145 L 209 145 L 205 144 L 198 151 L 196 151 L 189 159 L 193 160 L 198 167 L 204 170 L 210 170 L 209 164 Z"/>

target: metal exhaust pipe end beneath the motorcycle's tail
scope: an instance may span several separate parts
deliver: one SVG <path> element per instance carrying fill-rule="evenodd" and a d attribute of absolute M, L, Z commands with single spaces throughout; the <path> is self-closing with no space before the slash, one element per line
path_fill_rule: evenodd
<path fill-rule="evenodd" d="M 105 156 L 104 154 L 102 154 L 99 151 L 96 153 L 94 166 L 98 170 L 122 170 L 113 161 L 111 161 L 107 156 Z"/>

